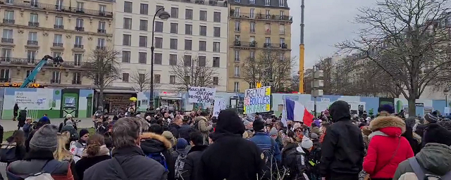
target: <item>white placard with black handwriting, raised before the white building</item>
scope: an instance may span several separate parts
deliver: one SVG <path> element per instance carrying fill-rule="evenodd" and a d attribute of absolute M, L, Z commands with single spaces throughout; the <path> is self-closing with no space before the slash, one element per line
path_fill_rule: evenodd
<path fill-rule="evenodd" d="M 188 89 L 188 102 L 190 103 L 213 103 L 216 88 L 190 87 Z"/>

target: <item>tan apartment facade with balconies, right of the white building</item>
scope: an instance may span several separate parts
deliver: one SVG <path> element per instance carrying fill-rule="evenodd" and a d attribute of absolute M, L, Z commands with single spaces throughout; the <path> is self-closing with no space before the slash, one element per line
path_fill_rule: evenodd
<path fill-rule="evenodd" d="M 232 0 L 228 37 L 228 91 L 244 92 L 251 84 L 242 77 L 242 65 L 263 49 L 291 52 L 290 8 L 286 0 Z M 253 86 L 253 84 L 252 84 Z"/>

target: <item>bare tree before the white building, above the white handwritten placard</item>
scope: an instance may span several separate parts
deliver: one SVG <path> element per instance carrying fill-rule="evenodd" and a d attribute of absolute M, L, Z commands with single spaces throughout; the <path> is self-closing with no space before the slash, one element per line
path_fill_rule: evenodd
<path fill-rule="evenodd" d="M 176 65 L 171 65 L 172 73 L 175 75 L 175 84 L 180 91 L 188 91 L 190 86 L 214 87 L 218 73 L 212 68 L 210 61 L 204 56 L 184 56 Z M 219 77 L 218 77 L 219 81 Z"/>

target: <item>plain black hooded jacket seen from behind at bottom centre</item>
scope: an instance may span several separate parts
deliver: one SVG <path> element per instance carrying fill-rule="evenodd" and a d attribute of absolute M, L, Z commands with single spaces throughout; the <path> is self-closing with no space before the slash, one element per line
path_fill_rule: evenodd
<path fill-rule="evenodd" d="M 199 161 L 197 180 L 255 180 L 264 165 L 261 152 L 252 141 L 242 139 L 245 125 L 233 110 L 218 116 L 214 141 Z"/>

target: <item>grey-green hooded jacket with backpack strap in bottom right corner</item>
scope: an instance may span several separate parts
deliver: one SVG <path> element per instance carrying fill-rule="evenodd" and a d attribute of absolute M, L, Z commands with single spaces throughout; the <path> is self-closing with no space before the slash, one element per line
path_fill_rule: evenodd
<path fill-rule="evenodd" d="M 440 143 L 427 143 L 421 151 L 415 155 L 416 160 L 424 173 L 443 176 L 451 171 L 451 147 Z M 414 169 L 409 160 L 404 160 L 398 165 L 393 179 L 416 179 Z"/>

